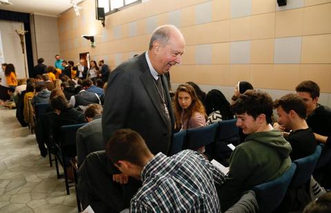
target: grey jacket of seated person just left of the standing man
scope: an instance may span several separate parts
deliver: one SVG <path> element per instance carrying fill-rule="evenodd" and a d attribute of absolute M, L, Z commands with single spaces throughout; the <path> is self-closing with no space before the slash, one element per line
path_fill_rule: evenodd
<path fill-rule="evenodd" d="M 104 150 L 101 116 L 94 118 L 93 121 L 83 125 L 77 130 L 76 149 L 78 165 L 81 165 L 86 156 L 91 152 Z"/>

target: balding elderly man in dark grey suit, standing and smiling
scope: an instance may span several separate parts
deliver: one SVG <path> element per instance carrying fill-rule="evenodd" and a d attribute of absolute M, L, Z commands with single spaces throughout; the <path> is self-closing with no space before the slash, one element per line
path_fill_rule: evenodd
<path fill-rule="evenodd" d="M 175 26 L 160 26 L 152 33 L 147 52 L 110 73 L 102 117 L 105 143 L 115 130 L 130 128 L 141 134 L 153 154 L 168 154 L 174 115 L 163 74 L 181 63 L 184 48 L 183 34 Z M 128 176 L 114 174 L 113 179 L 126 183 Z"/>

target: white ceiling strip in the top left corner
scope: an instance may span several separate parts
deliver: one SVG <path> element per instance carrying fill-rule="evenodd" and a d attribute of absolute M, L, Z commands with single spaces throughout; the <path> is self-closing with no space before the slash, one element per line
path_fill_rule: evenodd
<path fill-rule="evenodd" d="M 27 12 L 43 14 L 48 16 L 57 16 L 72 8 L 71 0 L 9 0 L 11 6 L 0 4 L 0 10 L 11 10 L 16 12 Z M 79 3 L 84 0 L 76 0 Z"/>

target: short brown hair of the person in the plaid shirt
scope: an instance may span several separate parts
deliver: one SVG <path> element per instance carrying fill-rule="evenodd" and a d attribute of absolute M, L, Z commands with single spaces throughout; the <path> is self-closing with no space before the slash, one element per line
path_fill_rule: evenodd
<path fill-rule="evenodd" d="M 112 163 L 129 161 L 143 166 L 143 156 L 150 154 L 150 150 L 138 132 L 121 129 L 112 134 L 106 145 L 106 154 Z"/>

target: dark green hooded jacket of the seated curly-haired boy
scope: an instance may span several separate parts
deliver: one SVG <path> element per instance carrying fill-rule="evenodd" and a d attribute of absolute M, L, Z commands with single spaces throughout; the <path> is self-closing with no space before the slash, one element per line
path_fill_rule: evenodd
<path fill-rule="evenodd" d="M 236 203 L 241 194 L 281 176 L 291 165 L 290 143 L 281 132 L 256 132 L 238 145 L 230 156 L 230 171 L 219 188 L 223 210 Z"/>

